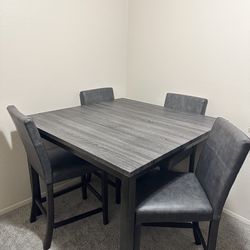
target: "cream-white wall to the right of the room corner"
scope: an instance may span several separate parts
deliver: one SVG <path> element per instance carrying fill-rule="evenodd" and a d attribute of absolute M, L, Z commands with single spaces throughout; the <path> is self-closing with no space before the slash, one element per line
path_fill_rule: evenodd
<path fill-rule="evenodd" d="M 129 1 L 128 97 L 208 98 L 207 114 L 250 127 L 250 1 Z M 248 134 L 249 135 L 249 134 Z M 250 219 L 250 157 L 227 202 Z"/>

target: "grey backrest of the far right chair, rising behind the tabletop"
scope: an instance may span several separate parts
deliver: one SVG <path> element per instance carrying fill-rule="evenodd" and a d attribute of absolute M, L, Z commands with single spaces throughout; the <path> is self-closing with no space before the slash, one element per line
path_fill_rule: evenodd
<path fill-rule="evenodd" d="M 207 103 L 205 98 L 167 93 L 164 106 L 180 112 L 204 115 Z"/>

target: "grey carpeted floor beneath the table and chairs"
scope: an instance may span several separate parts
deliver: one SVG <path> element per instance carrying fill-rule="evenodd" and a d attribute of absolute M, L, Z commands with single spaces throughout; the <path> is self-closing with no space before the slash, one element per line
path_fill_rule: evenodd
<path fill-rule="evenodd" d="M 111 188 L 110 188 L 111 189 Z M 110 196 L 113 197 L 112 191 Z M 102 214 L 58 228 L 54 231 L 52 250 L 84 249 L 115 250 L 119 249 L 119 206 L 110 199 L 110 223 L 102 224 Z M 88 200 L 81 200 L 80 190 L 68 193 L 56 199 L 57 219 L 99 206 L 99 202 L 89 194 Z M 30 205 L 19 208 L 0 217 L 1 250 L 36 250 L 42 249 L 45 232 L 45 220 L 41 216 L 35 223 L 29 223 Z M 201 224 L 207 233 L 207 224 Z M 169 228 L 143 228 L 143 250 L 185 249 L 199 250 L 193 242 L 192 230 Z M 223 215 L 217 249 L 250 249 L 250 226 L 240 223 L 228 215 Z"/>

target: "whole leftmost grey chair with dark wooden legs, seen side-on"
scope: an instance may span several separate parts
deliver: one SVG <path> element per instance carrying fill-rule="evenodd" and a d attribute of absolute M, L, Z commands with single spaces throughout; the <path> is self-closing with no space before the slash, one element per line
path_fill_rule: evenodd
<path fill-rule="evenodd" d="M 81 188 L 83 199 L 86 199 L 87 182 L 85 180 L 85 173 L 91 173 L 95 171 L 95 168 L 86 161 L 60 147 L 52 147 L 51 149 L 46 150 L 44 142 L 32 118 L 23 115 L 13 105 L 8 106 L 7 109 L 16 126 L 27 155 L 32 191 L 30 222 L 35 222 L 37 216 L 41 214 L 46 215 L 47 227 L 43 241 L 43 249 L 50 248 L 54 228 L 61 227 L 100 212 L 103 213 L 103 223 L 107 224 L 108 185 L 107 176 L 104 172 L 101 173 L 101 194 L 96 190 L 93 192 L 93 194 L 102 202 L 102 206 L 65 220 L 55 222 L 54 197 L 73 191 L 76 188 Z M 81 177 L 81 182 L 79 184 L 54 192 L 53 184 L 76 177 Z M 41 195 L 39 178 L 46 184 L 46 197 L 42 197 Z M 43 206 L 43 202 L 47 202 L 47 209 Z"/>

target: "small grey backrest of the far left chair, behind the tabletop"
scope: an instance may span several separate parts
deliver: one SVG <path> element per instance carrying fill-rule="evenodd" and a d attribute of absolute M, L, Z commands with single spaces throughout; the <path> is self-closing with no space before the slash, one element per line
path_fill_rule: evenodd
<path fill-rule="evenodd" d="M 80 92 L 81 105 L 114 101 L 113 88 L 90 89 Z"/>

